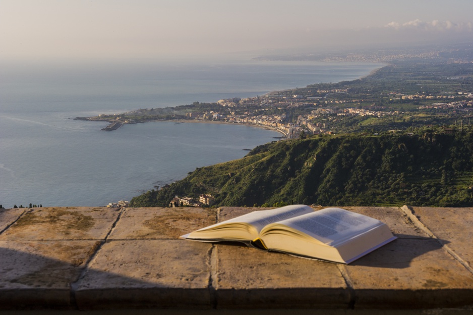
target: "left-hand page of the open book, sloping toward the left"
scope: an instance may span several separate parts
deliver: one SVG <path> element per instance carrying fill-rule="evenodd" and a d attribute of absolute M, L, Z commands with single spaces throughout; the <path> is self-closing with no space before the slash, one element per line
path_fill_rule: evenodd
<path fill-rule="evenodd" d="M 301 216 L 308 213 L 313 213 L 313 212 L 314 212 L 314 209 L 312 209 L 308 205 L 303 205 L 303 204 L 287 205 L 287 206 L 277 208 L 277 209 L 254 211 L 249 214 L 236 217 L 230 220 L 226 220 L 221 223 L 217 223 L 217 224 L 208 226 L 206 228 L 203 228 L 197 231 L 219 228 L 224 225 L 229 225 L 232 223 L 247 223 L 254 226 L 256 230 L 259 232 L 261 231 L 263 227 L 265 227 L 268 224 L 285 220 L 288 218 Z"/>

